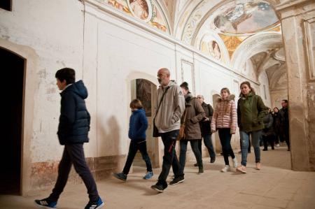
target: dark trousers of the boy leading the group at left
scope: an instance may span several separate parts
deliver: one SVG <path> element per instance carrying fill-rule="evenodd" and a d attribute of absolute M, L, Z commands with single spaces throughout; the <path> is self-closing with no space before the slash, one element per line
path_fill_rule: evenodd
<path fill-rule="evenodd" d="M 76 173 L 80 175 L 80 178 L 82 178 L 85 187 L 87 188 L 90 201 L 97 201 L 99 199 L 97 186 L 91 174 L 90 168 L 86 164 L 82 143 L 64 145 L 64 153 L 62 154 L 62 159 L 58 167 L 57 182 L 48 199 L 51 201 L 57 201 L 59 199 L 60 194 L 66 186 L 66 181 L 68 180 L 72 164 Z"/>

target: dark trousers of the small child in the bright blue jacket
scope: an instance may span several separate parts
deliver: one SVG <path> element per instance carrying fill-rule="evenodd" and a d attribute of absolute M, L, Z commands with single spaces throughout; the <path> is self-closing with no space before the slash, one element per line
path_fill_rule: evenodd
<path fill-rule="evenodd" d="M 123 173 L 125 173 L 126 175 L 128 175 L 130 171 L 132 161 L 134 161 L 134 156 L 136 156 L 138 150 L 141 152 L 142 159 L 144 159 L 144 161 L 146 162 L 146 171 L 152 172 L 151 160 L 148 156 L 148 152 L 146 151 L 146 140 L 143 140 L 141 143 L 130 141 L 128 157 L 125 167 L 123 169 Z"/>

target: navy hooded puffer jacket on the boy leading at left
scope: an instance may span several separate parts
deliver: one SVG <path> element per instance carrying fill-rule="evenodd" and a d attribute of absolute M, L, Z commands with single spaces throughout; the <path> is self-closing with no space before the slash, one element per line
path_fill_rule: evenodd
<path fill-rule="evenodd" d="M 90 114 L 85 106 L 87 89 L 83 81 L 79 80 L 66 87 L 60 95 L 62 99 L 57 132 L 59 143 L 65 145 L 88 142 Z"/>

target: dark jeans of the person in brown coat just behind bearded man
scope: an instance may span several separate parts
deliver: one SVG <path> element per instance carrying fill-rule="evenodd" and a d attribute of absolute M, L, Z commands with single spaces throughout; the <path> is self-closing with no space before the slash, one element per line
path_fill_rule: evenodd
<path fill-rule="evenodd" d="M 187 152 L 188 141 L 190 141 L 190 145 L 197 159 L 198 166 L 202 167 L 202 156 L 198 148 L 199 140 L 180 140 L 179 144 L 181 145 L 181 153 L 179 154 L 179 164 L 181 164 L 181 172 L 180 172 L 181 174 L 183 174 L 185 164 L 186 164 L 186 152 Z"/>

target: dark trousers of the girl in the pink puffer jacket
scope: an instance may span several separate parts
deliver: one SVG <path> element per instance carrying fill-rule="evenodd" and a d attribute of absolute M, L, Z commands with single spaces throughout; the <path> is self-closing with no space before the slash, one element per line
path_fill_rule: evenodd
<path fill-rule="evenodd" d="M 229 165 L 229 155 L 232 159 L 235 159 L 235 155 L 231 147 L 232 134 L 230 134 L 230 131 L 231 129 L 218 129 L 225 165 Z"/>

